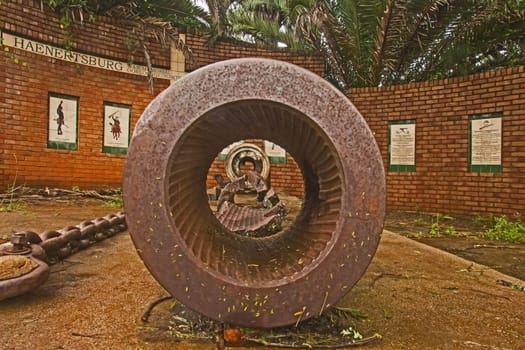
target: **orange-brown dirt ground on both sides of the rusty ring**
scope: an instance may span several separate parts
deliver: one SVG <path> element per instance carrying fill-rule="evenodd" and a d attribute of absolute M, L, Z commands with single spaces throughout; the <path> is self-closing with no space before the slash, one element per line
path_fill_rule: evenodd
<path fill-rule="evenodd" d="M 116 211 L 101 201 L 28 203 L 23 210 L 0 213 L 0 236 L 59 229 Z M 390 216 L 386 227 L 397 221 L 410 218 Z M 396 230 L 417 233 L 410 227 Z M 460 227 L 457 221 L 455 227 Z M 449 249 L 456 249 L 454 238 L 441 239 L 447 241 Z M 515 246 L 503 256 L 523 250 Z M 501 250 L 487 249 L 482 255 Z M 149 322 L 141 321 L 147 305 L 167 293 L 144 267 L 126 232 L 70 256 L 51 271 L 38 289 L 0 302 L 0 348 L 215 348 L 213 334 L 202 342 L 177 340 L 173 301 L 154 308 Z M 339 306 L 361 315 L 351 320 L 361 334 L 382 335 L 367 346 L 372 349 L 521 349 L 525 292 L 512 287 L 522 285 L 486 265 L 385 231 L 367 272 Z"/>

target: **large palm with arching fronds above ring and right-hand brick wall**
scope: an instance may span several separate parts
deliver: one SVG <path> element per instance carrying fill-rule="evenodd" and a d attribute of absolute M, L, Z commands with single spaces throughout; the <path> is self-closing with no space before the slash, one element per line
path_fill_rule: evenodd
<path fill-rule="evenodd" d="M 238 37 L 319 52 L 327 78 L 344 91 L 525 63 L 522 0 L 245 0 L 240 5 L 230 14 Z"/>

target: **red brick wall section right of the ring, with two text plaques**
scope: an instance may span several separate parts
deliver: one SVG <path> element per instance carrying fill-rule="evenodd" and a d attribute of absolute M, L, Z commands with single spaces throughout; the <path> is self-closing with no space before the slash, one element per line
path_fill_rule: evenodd
<path fill-rule="evenodd" d="M 525 67 L 350 94 L 385 167 L 389 121 L 416 121 L 416 171 L 387 169 L 389 208 L 525 214 Z M 503 113 L 502 172 L 470 172 L 469 116 L 492 112 Z"/>

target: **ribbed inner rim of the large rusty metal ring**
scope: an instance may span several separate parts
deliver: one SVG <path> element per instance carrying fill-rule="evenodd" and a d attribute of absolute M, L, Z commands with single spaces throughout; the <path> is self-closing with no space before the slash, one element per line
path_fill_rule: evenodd
<path fill-rule="evenodd" d="M 291 227 L 269 237 L 232 233 L 209 209 L 210 164 L 225 146 L 242 139 L 281 145 L 303 173 L 301 212 Z M 289 106 L 263 100 L 219 106 L 187 128 L 169 162 L 165 195 L 174 234 L 196 263 L 221 279 L 254 287 L 289 282 L 313 269 L 335 241 L 342 202 L 339 159 L 321 128 Z"/>

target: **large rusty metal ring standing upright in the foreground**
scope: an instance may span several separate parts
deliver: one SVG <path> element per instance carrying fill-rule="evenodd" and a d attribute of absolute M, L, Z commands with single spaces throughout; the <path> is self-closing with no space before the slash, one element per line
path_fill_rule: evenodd
<path fill-rule="evenodd" d="M 284 147 L 304 180 L 294 224 L 264 238 L 229 232 L 206 176 L 242 139 Z M 385 214 L 383 163 L 352 103 L 319 76 L 267 59 L 215 63 L 180 79 L 136 125 L 124 176 L 131 237 L 157 281 L 223 322 L 276 327 L 321 314 L 359 280 Z"/>

